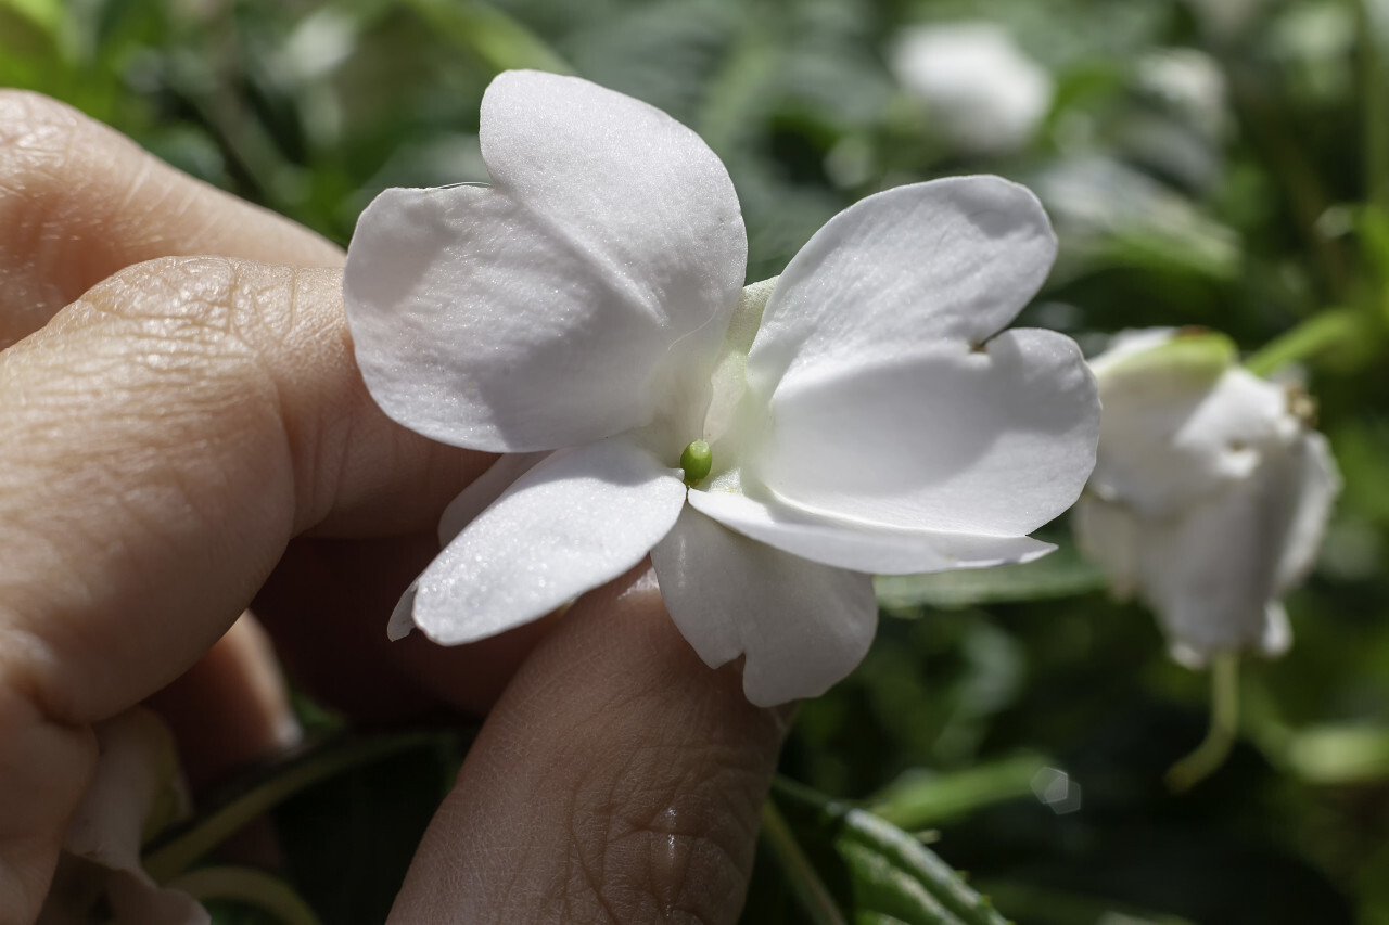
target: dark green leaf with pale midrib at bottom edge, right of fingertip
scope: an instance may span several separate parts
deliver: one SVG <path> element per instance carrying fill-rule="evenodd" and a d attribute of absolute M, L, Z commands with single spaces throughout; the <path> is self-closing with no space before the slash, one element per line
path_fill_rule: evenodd
<path fill-rule="evenodd" d="M 911 835 L 783 778 L 763 835 L 817 925 L 1006 925 L 988 897 Z"/>

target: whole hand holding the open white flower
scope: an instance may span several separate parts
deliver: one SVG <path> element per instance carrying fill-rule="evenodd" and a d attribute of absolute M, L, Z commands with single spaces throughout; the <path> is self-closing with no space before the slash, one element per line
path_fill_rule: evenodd
<path fill-rule="evenodd" d="M 157 694 L 194 781 L 275 747 L 263 649 L 217 644 L 251 606 L 354 715 L 486 712 L 392 922 L 733 922 L 785 712 L 699 661 L 644 564 L 476 646 L 386 642 L 492 457 L 375 407 L 340 265 L 0 90 L 0 921 L 38 915 L 92 724 Z"/>

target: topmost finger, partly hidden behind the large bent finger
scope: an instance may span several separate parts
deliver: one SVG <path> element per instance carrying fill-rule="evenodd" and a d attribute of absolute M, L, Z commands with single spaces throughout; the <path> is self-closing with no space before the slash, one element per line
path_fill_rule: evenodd
<path fill-rule="evenodd" d="M 342 264 L 322 238 L 181 174 L 72 107 L 0 90 L 0 347 L 115 271 L 179 254 Z"/>

